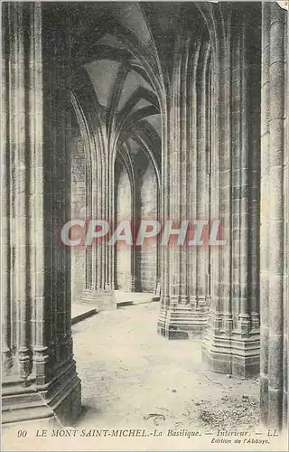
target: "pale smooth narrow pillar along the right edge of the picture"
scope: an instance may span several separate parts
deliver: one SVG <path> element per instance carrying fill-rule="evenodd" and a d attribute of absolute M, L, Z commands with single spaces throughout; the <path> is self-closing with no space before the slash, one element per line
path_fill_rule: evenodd
<path fill-rule="evenodd" d="M 262 14 L 261 419 L 287 419 L 288 12 L 275 2 Z"/>

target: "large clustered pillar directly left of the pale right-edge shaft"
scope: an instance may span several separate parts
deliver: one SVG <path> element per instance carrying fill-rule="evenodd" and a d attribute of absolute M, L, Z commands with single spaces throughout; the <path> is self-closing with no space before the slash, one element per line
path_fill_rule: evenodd
<path fill-rule="evenodd" d="M 231 25 L 224 22 L 212 65 L 211 215 L 221 221 L 227 245 L 210 252 L 203 350 L 212 370 L 241 377 L 259 369 L 259 9 L 242 6 Z"/>

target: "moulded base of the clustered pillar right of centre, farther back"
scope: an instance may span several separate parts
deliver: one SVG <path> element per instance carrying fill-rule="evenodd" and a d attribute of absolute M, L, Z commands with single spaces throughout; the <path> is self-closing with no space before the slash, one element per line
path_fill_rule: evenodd
<path fill-rule="evenodd" d="M 157 322 L 157 333 L 167 339 L 189 339 L 201 337 L 207 325 L 206 306 L 192 308 L 191 305 L 177 305 L 161 310 Z"/>

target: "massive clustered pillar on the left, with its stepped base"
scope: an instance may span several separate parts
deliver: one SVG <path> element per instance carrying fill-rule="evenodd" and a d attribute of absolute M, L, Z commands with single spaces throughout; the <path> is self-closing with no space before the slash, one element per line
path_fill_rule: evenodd
<path fill-rule="evenodd" d="M 3 5 L 4 424 L 55 414 L 70 422 L 81 406 L 70 251 L 56 237 L 70 218 L 67 17 L 60 6 L 53 27 L 45 5 Z"/>

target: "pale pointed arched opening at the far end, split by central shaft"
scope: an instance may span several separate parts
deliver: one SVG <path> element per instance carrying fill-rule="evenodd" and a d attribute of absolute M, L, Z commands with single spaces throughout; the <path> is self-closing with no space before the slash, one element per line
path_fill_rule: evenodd
<path fill-rule="evenodd" d="M 141 222 L 159 219 L 159 168 L 144 144 L 131 139 L 116 160 L 115 177 L 116 227 L 130 221 L 133 236 L 132 244 L 120 240 L 115 250 L 116 289 L 152 295 L 160 274 L 159 240 L 136 242 Z"/>

